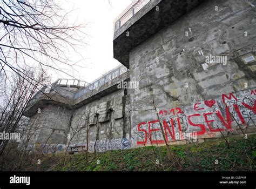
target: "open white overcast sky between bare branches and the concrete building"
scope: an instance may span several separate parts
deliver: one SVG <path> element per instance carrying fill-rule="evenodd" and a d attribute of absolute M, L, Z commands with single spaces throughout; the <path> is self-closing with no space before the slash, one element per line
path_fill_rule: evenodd
<path fill-rule="evenodd" d="M 110 4 L 109 4 L 110 2 Z M 71 12 L 69 22 L 86 23 L 87 46 L 80 49 L 84 59 L 80 65 L 85 68 L 76 68 L 76 78 L 92 82 L 105 72 L 120 65 L 113 58 L 113 21 L 132 2 L 132 0 L 67 0 L 63 1 L 62 7 Z M 71 56 L 76 62 L 81 57 Z M 52 73 L 51 80 L 68 78 L 63 73 Z"/>

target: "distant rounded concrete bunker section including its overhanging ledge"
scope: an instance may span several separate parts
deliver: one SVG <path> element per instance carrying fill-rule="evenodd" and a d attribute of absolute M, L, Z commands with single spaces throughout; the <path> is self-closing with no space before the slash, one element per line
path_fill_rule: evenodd
<path fill-rule="evenodd" d="M 52 153 L 66 147 L 72 150 L 74 146 L 86 146 L 87 125 L 90 151 L 94 151 L 96 134 L 97 151 L 130 147 L 126 140 L 126 126 L 130 124 L 126 124 L 129 119 L 124 116 L 129 98 L 124 95 L 125 89 L 118 89 L 120 80 L 129 80 L 129 72 L 87 93 L 81 87 L 77 91 L 79 98 L 75 98 L 73 92 L 77 87 L 72 86 L 53 85 L 48 92 L 37 93 L 26 107 L 25 116 L 30 117 L 30 126 L 19 147 L 25 144 L 27 150 L 38 147 L 45 153 Z"/>

